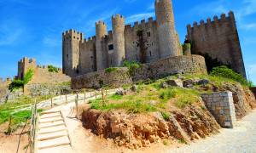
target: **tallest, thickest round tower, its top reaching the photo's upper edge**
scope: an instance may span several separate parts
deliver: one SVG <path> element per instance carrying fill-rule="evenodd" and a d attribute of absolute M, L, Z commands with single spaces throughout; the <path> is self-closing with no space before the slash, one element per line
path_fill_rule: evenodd
<path fill-rule="evenodd" d="M 175 30 L 172 0 L 155 0 L 154 7 L 160 44 L 160 58 L 181 55 Z"/>

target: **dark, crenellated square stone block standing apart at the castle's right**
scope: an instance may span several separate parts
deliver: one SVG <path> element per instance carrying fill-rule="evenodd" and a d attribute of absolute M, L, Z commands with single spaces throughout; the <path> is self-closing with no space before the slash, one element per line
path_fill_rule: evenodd
<path fill-rule="evenodd" d="M 208 54 L 212 59 L 218 59 L 225 65 L 231 65 L 232 69 L 246 77 L 246 71 L 241 54 L 241 46 L 236 20 L 233 12 L 229 16 L 225 14 L 214 16 L 214 19 L 201 20 L 187 26 L 188 39 L 192 42 L 193 54 Z"/>

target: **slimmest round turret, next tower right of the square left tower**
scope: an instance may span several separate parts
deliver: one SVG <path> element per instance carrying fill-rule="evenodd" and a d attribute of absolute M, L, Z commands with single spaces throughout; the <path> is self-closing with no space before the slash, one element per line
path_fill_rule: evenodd
<path fill-rule="evenodd" d="M 97 71 L 104 69 L 102 38 L 107 35 L 107 26 L 101 20 L 96 22 L 96 66 Z"/>

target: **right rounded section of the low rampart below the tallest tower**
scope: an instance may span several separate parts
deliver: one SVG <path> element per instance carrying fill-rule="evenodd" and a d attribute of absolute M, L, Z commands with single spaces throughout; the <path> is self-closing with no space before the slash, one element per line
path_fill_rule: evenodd
<path fill-rule="evenodd" d="M 207 74 L 205 58 L 200 55 L 184 55 L 160 59 L 134 71 L 133 81 L 158 79 L 177 73 Z"/>

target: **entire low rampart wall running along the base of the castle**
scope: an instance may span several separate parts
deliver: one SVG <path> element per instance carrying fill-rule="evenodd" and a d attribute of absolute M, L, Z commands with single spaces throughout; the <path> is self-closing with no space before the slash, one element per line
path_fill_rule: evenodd
<path fill-rule="evenodd" d="M 131 74 L 127 68 L 115 71 L 96 71 L 72 78 L 72 88 L 99 88 L 100 82 L 119 87 L 132 82 L 158 79 L 177 73 L 207 74 L 205 59 L 200 55 L 177 56 L 144 64 Z"/>

